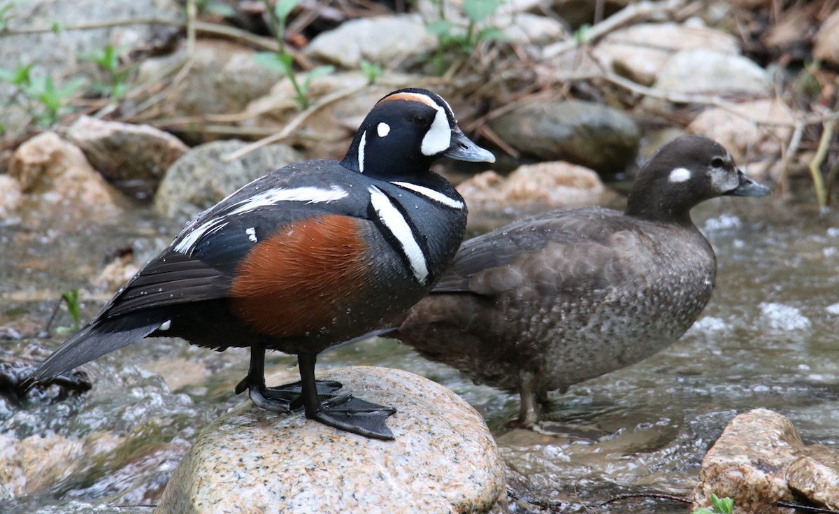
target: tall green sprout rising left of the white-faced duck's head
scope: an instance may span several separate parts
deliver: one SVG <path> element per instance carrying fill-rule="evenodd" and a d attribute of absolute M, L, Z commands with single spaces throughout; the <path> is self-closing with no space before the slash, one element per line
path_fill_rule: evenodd
<path fill-rule="evenodd" d="M 277 40 L 277 45 L 279 45 L 279 50 L 276 52 L 259 52 L 253 56 L 253 59 L 261 66 L 272 70 L 279 70 L 284 76 L 288 77 L 289 81 L 291 81 L 291 86 L 294 87 L 294 100 L 300 105 L 300 108 L 308 108 L 309 87 L 312 79 L 331 73 L 335 67 L 318 66 L 306 72 L 301 81 L 298 80 L 294 74 L 294 55 L 291 55 L 286 49 L 285 29 L 289 20 L 289 14 L 300 3 L 300 0 L 278 0 L 273 9 L 271 8 L 270 0 L 263 0 L 263 2 L 265 3 L 265 8 L 268 10 L 271 29 L 274 32 L 274 39 Z"/>

